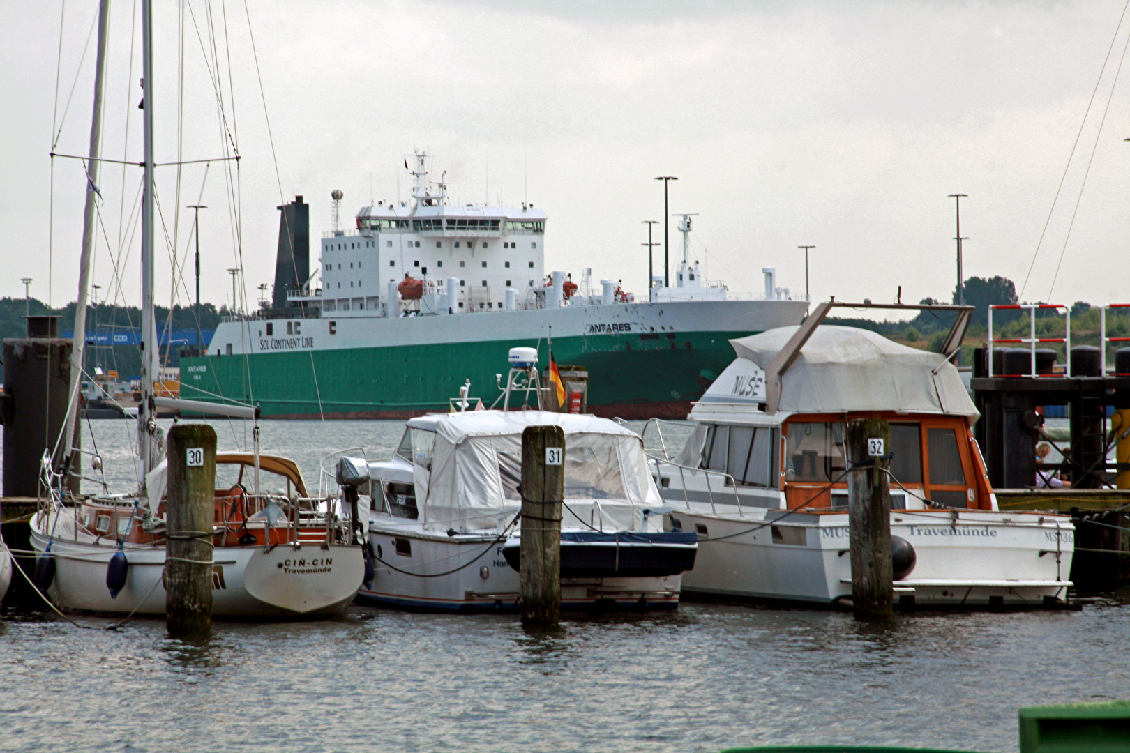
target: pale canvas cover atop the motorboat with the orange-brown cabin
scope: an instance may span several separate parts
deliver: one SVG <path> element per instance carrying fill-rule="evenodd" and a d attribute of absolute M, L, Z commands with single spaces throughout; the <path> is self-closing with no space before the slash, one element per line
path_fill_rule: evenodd
<path fill-rule="evenodd" d="M 741 392 L 734 385 L 748 385 L 751 369 L 764 373 L 797 329 L 777 327 L 731 340 L 738 358 L 711 385 L 701 403 L 748 402 L 734 396 Z M 901 345 L 857 327 L 816 327 L 781 383 L 781 412 L 948 413 L 971 421 L 981 415 L 957 368 L 944 356 Z"/>

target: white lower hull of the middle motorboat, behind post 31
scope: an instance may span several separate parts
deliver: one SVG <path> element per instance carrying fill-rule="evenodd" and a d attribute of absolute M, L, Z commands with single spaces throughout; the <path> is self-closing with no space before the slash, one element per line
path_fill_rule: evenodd
<path fill-rule="evenodd" d="M 402 524 L 382 527 L 371 519 L 370 542 L 377 561 L 373 581 L 362 587 L 358 601 L 429 611 L 516 611 L 519 573 L 503 555 L 505 541 L 497 534 L 446 536 Z M 679 575 L 562 578 L 562 608 L 676 608 L 679 590 Z"/>

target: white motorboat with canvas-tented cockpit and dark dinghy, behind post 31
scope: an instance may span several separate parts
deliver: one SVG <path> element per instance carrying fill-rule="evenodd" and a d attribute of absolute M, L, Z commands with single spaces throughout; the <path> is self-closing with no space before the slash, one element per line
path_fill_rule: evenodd
<path fill-rule="evenodd" d="M 353 458 L 371 501 L 373 579 L 359 602 L 436 611 L 519 608 L 522 431 L 565 432 L 562 608 L 675 608 L 697 536 L 671 529 L 638 435 L 542 410 L 410 419 L 388 461 Z M 363 506 L 364 507 L 364 506 Z"/>

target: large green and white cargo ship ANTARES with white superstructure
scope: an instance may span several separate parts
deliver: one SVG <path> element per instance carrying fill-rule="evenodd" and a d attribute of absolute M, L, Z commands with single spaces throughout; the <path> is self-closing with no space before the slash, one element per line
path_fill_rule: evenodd
<path fill-rule="evenodd" d="M 537 348 L 546 365 L 551 339 L 556 364 L 588 370 L 588 412 L 685 418 L 732 360 L 731 339 L 808 310 L 771 268 L 758 294 L 704 280 L 689 214 L 673 280 L 653 275 L 642 299 L 590 270 L 580 283 L 547 274 L 542 210 L 452 204 L 426 159 L 414 155 L 410 200 L 362 208 L 355 228 L 339 228 L 333 192 L 313 273 L 310 205 L 279 207 L 272 300 L 182 357 L 181 396 L 276 418 L 410 418 L 447 410 L 468 379 L 489 403 L 510 349 Z"/>

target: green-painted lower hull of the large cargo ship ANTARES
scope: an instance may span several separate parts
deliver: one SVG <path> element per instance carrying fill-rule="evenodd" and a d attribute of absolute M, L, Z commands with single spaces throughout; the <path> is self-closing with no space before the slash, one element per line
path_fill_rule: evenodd
<path fill-rule="evenodd" d="M 589 411 L 625 419 L 686 418 L 733 360 L 732 338 L 755 332 L 603 334 L 554 338 L 558 365 L 589 371 Z M 447 410 L 466 379 L 489 405 L 523 340 L 301 350 L 181 359 L 181 396 L 251 403 L 273 418 L 409 418 Z"/>

